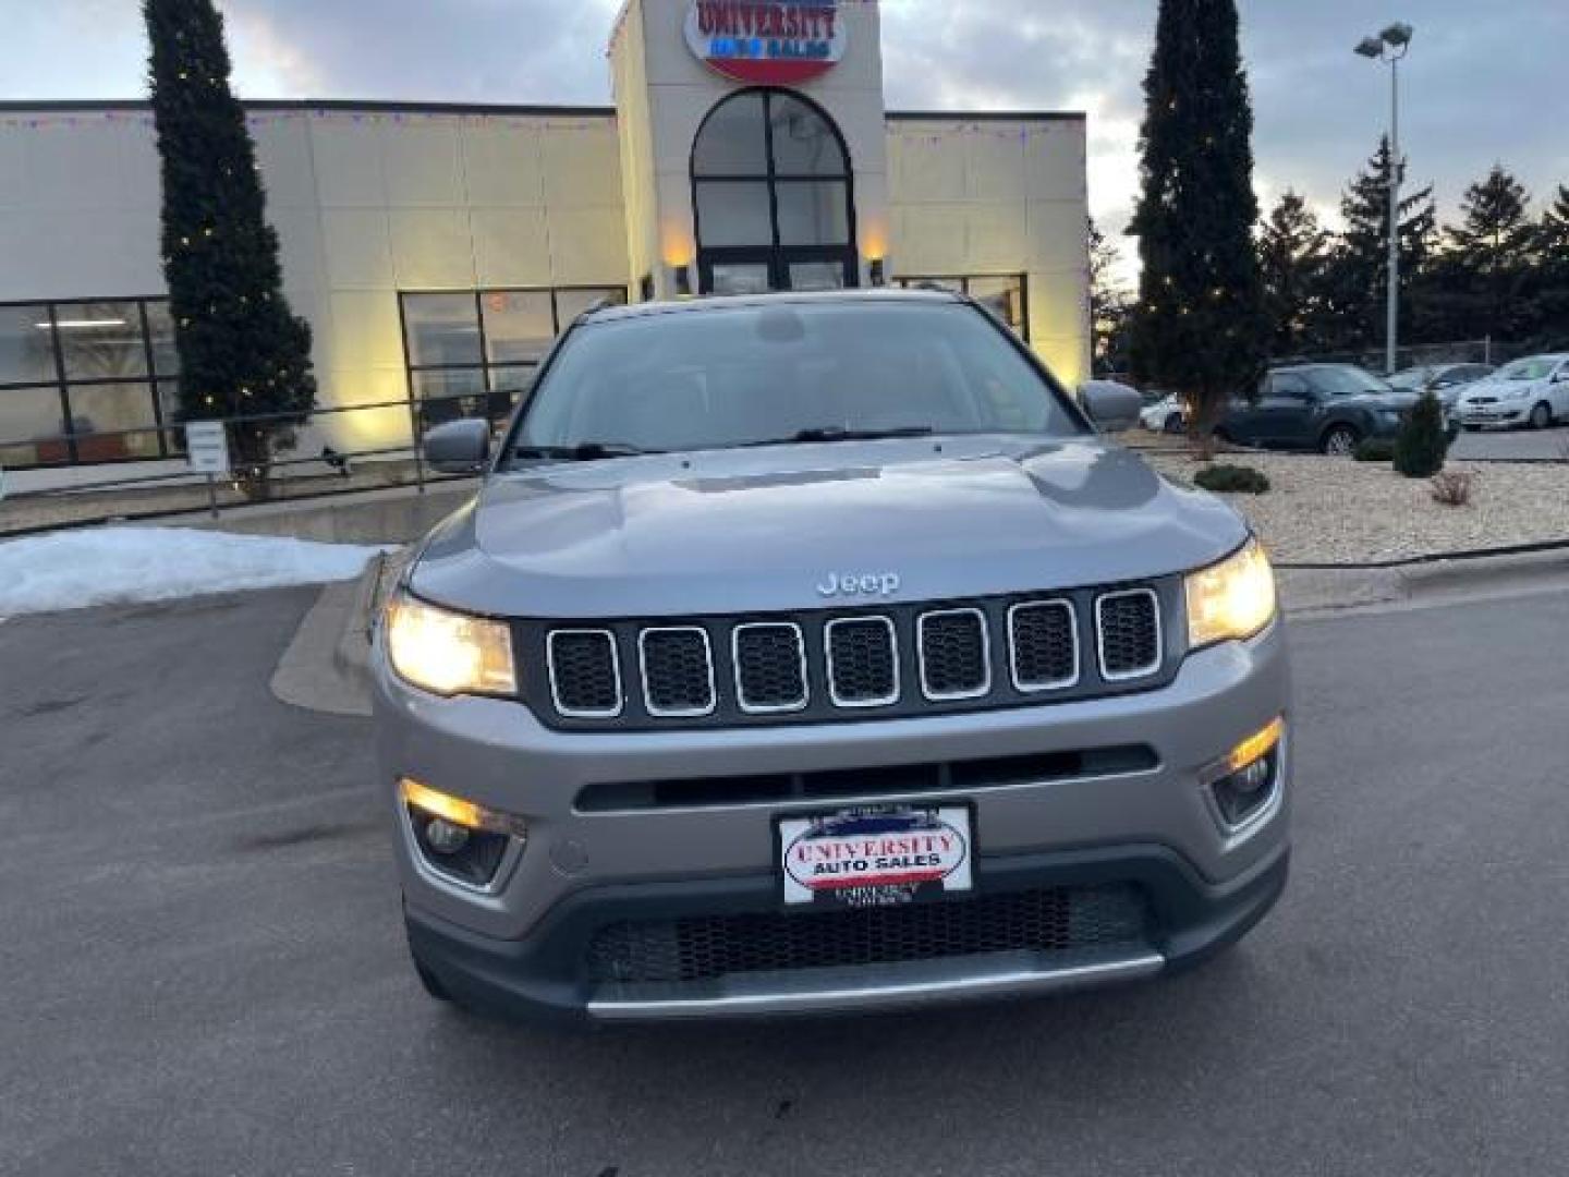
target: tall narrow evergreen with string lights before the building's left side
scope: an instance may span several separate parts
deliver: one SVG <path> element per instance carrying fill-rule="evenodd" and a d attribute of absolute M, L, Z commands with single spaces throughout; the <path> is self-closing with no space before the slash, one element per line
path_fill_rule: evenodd
<path fill-rule="evenodd" d="M 311 328 L 282 292 L 278 234 L 212 0 L 143 0 L 163 173 L 163 275 L 184 419 L 229 427 L 242 486 L 265 496 L 275 449 L 315 406 Z"/>

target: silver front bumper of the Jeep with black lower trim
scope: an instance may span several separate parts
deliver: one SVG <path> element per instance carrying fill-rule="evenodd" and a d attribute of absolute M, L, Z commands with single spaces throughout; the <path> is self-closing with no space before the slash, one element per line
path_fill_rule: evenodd
<path fill-rule="evenodd" d="M 486 893 L 419 858 L 394 810 L 410 940 L 475 1006 L 599 1018 L 715 1017 L 893 1008 L 1047 992 L 1178 967 L 1241 935 L 1285 879 L 1290 752 L 1277 797 L 1246 836 L 1224 830 L 1200 772 L 1288 712 L 1285 636 L 1189 654 L 1166 687 L 1036 708 L 748 730 L 568 733 L 516 703 L 410 691 L 377 659 L 380 774 L 413 777 L 529 825 Z M 1147 745 L 1139 771 L 979 791 L 581 811 L 590 785 L 770 772 L 857 771 L 967 758 Z M 974 807 L 976 896 L 1131 884 L 1149 935 L 1081 957 L 965 956 L 857 970 L 728 976 L 678 989 L 593 981 L 595 931 L 632 918 L 778 912 L 775 821 L 855 803 Z M 794 918 L 794 916 L 792 916 Z"/>

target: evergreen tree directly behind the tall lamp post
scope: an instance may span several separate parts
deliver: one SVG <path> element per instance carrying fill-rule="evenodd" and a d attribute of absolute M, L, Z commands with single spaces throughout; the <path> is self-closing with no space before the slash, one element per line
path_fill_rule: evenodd
<path fill-rule="evenodd" d="M 1384 342 L 1385 298 L 1389 290 L 1389 182 L 1392 173 L 1389 137 L 1363 171 L 1346 185 L 1340 199 L 1345 229 L 1335 240 L 1324 300 L 1337 323 L 1332 350 L 1371 350 Z M 1420 188 L 1400 201 L 1401 337 L 1414 337 L 1412 326 L 1423 314 L 1428 286 L 1423 282 L 1437 235 L 1437 207 L 1432 187 Z"/>

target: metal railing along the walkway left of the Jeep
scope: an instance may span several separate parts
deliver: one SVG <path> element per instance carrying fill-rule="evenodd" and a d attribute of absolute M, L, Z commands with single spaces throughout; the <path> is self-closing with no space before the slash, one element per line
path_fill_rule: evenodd
<path fill-rule="evenodd" d="M 207 512 L 217 518 L 223 512 L 245 510 L 278 502 L 323 499 L 339 494 L 356 494 L 372 490 L 408 486 L 424 494 L 430 485 L 458 482 L 463 476 L 444 476 L 431 471 L 420 454 L 420 439 L 427 428 L 458 417 L 485 416 L 501 424 L 505 416 L 491 394 L 452 394 L 441 397 L 400 397 L 364 405 L 340 405 L 315 408 L 309 413 L 251 413 L 237 416 L 191 416 L 177 424 L 138 425 L 119 430 L 75 430 L 25 439 L 0 438 L 0 537 L 55 530 L 58 527 L 89 526 L 132 519 L 168 518 Z M 410 441 L 400 444 L 369 444 L 340 447 L 334 438 L 319 430 L 336 422 L 353 422 L 364 414 L 406 414 Z M 507 410 L 510 414 L 510 408 Z M 198 422 L 223 424 L 229 436 L 231 476 L 202 474 L 188 466 L 184 454 L 185 425 Z M 264 463 L 254 463 L 265 472 L 265 497 L 253 497 L 243 490 L 246 463 L 234 444 L 237 430 L 273 425 L 290 427 L 298 433 L 314 435 L 308 454 L 303 439 L 290 449 L 268 454 Z M 386 422 L 366 430 L 367 435 L 386 433 Z M 169 457 L 133 457 L 138 438 L 179 435 L 179 449 L 169 446 Z M 17 450 L 36 457 L 39 452 L 77 452 L 89 441 L 102 449 L 121 449 L 124 458 L 111 458 L 96 465 L 64 461 L 31 461 L 5 468 L 5 457 Z M 340 441 L 340 436 L 336 438 Z M 105 443 L 118 443 L 108 444 Z M 67 474 L 69 472 L 69 474 Z M 102 477 L 97 477 L 102 474 Z M 64 477 L 61 477 L 64 476 Z M 86 476 L 86 477 L 77 477 Z M 28 486 L 28 483 L 46 483 Z"/>

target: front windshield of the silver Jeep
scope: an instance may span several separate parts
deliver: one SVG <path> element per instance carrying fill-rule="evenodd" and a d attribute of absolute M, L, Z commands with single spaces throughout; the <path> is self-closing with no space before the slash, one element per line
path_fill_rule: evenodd
<path fill-rule="evenodd" d="M 1083 433 L 1001 331 L 967 306 L 893 300 L 590 322 L 535 388 L 510 457 L 885 433 Z"/>

